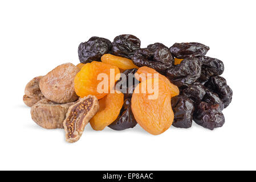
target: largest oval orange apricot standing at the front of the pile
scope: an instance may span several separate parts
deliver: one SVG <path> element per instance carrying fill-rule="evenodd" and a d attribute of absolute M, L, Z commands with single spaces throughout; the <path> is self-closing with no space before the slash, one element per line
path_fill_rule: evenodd
<path fill-rule="evenodd" d="M 147 89 L 150 84 L 154 90 L 152 93 Z M 154 94 L 157 97 L 151 99 L 150 96 Z M 159 135 L 169 129 L 174 115 L 170 104 L 169 86 L 165 81 L 152 78 L 137 85 L 132 94 L 132 113 L 137 123 L 153 135 Z"/>

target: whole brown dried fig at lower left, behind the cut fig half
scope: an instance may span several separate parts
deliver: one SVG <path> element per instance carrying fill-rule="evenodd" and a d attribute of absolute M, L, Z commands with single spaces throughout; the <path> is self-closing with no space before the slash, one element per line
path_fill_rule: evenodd
<path fill-rule="evenodd" d="M 63 129 L 63 121 L 68 107 L 74 102 L 58 104 L 47 99 L 42 99 L 31 107 L 32 120 L 45 129 Z"/>

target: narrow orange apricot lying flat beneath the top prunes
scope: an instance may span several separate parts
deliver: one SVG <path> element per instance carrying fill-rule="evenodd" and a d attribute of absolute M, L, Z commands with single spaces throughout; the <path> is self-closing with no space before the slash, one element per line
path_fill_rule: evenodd
<path fill-rule="evenodd" d="M 139 68 L 135 64 L 133 64 L 131 59 L 127 59 L 125 57 L 114 56 L 109 53 L 101 56 L 101 61 L 103 63 L 115 65 L 121 69 L 132 69 L 132 68 Z"/>

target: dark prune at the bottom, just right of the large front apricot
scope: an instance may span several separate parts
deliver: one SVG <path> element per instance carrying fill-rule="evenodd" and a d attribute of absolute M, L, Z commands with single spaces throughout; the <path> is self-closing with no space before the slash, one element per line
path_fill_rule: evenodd
<path fill-rule="evenodd" d="M 172 110 L 174 113 L 173 126 L 188 129 L 192 126 L 194 112 L 193 102 L 186 96 L 172 98 Z"/>

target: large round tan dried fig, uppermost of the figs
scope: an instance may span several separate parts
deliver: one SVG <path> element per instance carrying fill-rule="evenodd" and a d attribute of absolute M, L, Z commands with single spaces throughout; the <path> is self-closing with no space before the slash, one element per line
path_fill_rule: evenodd
<path fill-rule="evenodd" d="M 39 87 L 48 100 L 63 104 L 78 100 L 74 89 L 74 78 L 79 68 L 72 63 L 59 65 L 42 77 Z"/>

